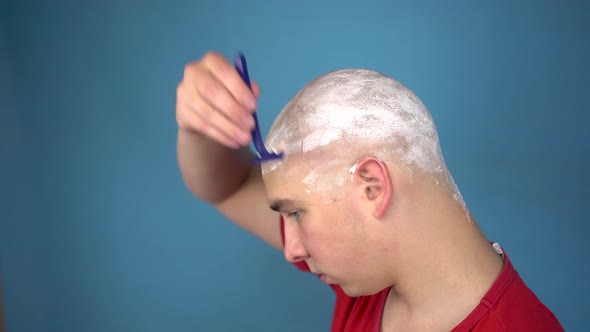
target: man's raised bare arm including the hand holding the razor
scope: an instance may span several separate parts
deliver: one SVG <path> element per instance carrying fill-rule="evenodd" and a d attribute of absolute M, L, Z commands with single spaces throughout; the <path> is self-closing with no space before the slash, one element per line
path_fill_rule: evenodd
<path fill-rule="evenodd" d="M 252 112 L 260 95 L 222 55 L 207 53 L 185 67 L 177 89 L 178 163 L 199 199 L 282 249 L 279 216 L 268 207 L 260 168 L 250 162 Z"/>

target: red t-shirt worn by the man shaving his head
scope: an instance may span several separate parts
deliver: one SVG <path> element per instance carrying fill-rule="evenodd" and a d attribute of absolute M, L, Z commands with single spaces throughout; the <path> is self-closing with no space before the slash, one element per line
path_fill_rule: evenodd
<path fill-rule="evenodd" d="M 281 238 L 284 243 L 281 218 Z M 535 294 L 522 281 L 506 254 L 504 266 L 479 305 L 453 331 L 563 331 L 563 327 Z M 309 272 L 305 261 L 294 263 Z M 332 331 L 379 332 L 385 300 L 390 288 L 369 295 L 350 297 L 338 285 Z"/>

